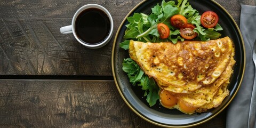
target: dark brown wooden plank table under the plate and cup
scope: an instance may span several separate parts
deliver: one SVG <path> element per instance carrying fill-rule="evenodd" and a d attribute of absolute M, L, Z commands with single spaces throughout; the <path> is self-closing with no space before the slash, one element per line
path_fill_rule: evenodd
<path fill-rule="evenodd" d="M 157 127 L 120 97 L 111 71 L 116 31 L 140 0 L 0 1 L 0 127 Z M 240 4 L 218 0 L 239 25 Z M 101 49 L 60 34 L 79 7 L 105 6 L 114 36 Z M 195 127 L 225 127 L 226 111 Z"/>

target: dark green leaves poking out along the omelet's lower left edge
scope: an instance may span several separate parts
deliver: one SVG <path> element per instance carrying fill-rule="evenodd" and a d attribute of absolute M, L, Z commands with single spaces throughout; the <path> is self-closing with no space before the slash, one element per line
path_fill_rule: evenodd
<path fill-rule="evenodd" d="M 149 106 L 154 106 L 159 99 L 159 87 L 153 78 L 149 78 L 140 68 L 140 66 L 131 58 L 124 59 L 123 70 L 127 73 L 130 82 L 133 86 L 142 86 L 141 89 L 145 91 L 144 97 L 147 96 Z"/>

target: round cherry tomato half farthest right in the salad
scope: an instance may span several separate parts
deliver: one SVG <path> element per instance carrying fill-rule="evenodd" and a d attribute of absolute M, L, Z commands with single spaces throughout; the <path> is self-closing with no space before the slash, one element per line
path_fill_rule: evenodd
<path fill-rule="evenodd" d="M 212 28 L 219 21 L 218 15 L 213 11 L 206 11 L 201 15 L 201 24 L 206 28 Z"/>

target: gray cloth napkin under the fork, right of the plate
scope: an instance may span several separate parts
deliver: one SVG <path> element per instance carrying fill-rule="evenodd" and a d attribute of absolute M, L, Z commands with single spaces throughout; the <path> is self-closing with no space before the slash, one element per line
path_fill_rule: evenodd
<path fill-rule="evenodd" d="M 246 66 L 242 85 L 227 108 L 227 128 L 247 127 L 255 75 L 252 49 L 256 38 L 256 6 L 241 5 L 241 7 L 240 30 L 244 38 Z"/>

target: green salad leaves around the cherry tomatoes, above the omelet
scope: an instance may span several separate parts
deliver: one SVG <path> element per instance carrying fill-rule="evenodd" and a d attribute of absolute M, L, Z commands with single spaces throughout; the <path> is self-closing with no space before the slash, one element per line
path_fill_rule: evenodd
<path fill-rule="evenodd" d="M 198 34 L 198 40 L 207 41 L 209 39 L 216 39 L 221 36 L 218 33 L 222 30 L 221 26 L 217 26 L 219 29 L 207 30 L 201 26 L 201 15 L 198 11 L 193 9 L 188 0 L 178 0 L 177 5 L 174 1 L 165 2 L 155 5 L 151 9 L 149 15 L 144 13 L 134 13 L 133 16 L 128 17 L 129 22 L 126 27 L 125 39 L 133 39 L 134 41 L 141 42 L 169 42 L 177 43 L 179 40 L 184 41 L 184 38 L 180 36 L 179 29 L 173 27 L 170 23 L 170 18 L 175 14 L 181 14 L 187 18 L 188 23 L 196 26 L 194 31 Z M 157 31 L 158 23 L 164 23 L 170 28 L 170 35 L 167 39 L 159 38 Z"/>

